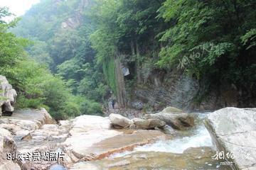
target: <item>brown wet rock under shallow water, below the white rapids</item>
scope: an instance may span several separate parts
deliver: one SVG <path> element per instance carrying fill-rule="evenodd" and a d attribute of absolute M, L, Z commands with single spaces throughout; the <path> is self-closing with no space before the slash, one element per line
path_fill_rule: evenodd
<path fill-rule="evenodd" d="M 218 162 L 210 157 L 214 154 L 209 147 L 187 149 L 183 154 L 167 152 L 134 152 L 123 157 L 108 157 L 94 162 L 78 162 L 70 167 L 78 169 L 216 169 Z M 219 169 L 219 168 L 218 168 Z M 228 170 L 228 166 L 220 170 Z"/>

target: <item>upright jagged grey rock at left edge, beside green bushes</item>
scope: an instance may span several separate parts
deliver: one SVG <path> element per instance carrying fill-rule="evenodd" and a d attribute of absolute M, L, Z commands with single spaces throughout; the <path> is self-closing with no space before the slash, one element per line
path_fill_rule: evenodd
<path fill-rule="evenodd" d="M 6 77 L 0 75 L 0 116 L 2 110 L 7 112 L 14 111 L 16 96 L 16 91 L 9 84 Z"/>

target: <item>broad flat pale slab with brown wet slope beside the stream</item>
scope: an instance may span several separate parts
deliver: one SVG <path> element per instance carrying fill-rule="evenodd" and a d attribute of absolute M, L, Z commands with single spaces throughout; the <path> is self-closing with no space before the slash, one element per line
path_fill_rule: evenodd
<path fill-rule="evenodd" d="M 70 136 L 63 142 L 67 156 L 63 164 L 67 167 L 79 160 L 103 159 L 166 138 L 158 130 L 114 130 L 110 118 L 97 115 L 81 115 L 70 121 Z"/>

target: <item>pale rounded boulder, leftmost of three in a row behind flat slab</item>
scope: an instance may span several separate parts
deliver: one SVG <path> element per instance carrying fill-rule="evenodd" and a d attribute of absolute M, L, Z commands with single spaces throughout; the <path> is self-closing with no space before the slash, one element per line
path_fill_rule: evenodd
<path fill-rule="evenodd" d="M 119 125 L 123 128 L 129 128 L 129 126 L 132 125 L 132 120 L 119 114 L 112 113 L 109 118 L 112 125 Z"/>

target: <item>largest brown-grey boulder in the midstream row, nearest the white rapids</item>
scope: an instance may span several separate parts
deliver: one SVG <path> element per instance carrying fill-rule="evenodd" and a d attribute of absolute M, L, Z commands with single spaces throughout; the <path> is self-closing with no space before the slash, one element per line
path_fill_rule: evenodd
<path fill-rule="evenodd" d="M 188 113 L 181 112 L 169 112 L 169 111 L 178 111 L 176 108 L 166 108 L 162 112 L 155 114 L 146 114 L 143 116 L 145 119 L 159 119 L 164 121 L 167 125 L 171 125 L 172 128 L 177 130 L 185 130 L 188 127 L 192 127 L 194 125 L 193 115 Z"/>

